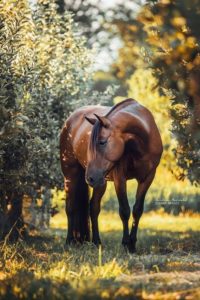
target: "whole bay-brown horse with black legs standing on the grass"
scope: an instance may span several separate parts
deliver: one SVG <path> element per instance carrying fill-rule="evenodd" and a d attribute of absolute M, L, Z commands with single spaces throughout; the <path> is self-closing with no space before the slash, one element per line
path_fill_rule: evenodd
<path fill-rule="evenodd" d="M 94 118 L 95 116 L 95 118 Z M 123 223 L 122 244 L 135 251 L 137 228 L 144 199 L 163 151 L 162 141 L 150 111 L 133 99 L 114 107 L 87 106 L 76 110 L 66 121 L 60 140 L 61 166 L 67 192 L 67 243 L 101 243 L 98 215 L 106 181 L 114 181 Z M 129 234 L 130 207 L 126 181 L 138 182 Z M 88 185 L 93 187 L 89 204 Z"/>

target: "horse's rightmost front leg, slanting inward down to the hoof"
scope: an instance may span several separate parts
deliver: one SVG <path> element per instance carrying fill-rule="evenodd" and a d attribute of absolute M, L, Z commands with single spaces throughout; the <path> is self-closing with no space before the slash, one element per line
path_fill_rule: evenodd
<path fill-rule="evenodd" d="M 134 253 L 136 251 L 136 241 L 137 241 L 137 229 L 139 220 L 143 214 L 144 210 L 144 199 L 148 188 L 150 187 L 155 176 L 155 171 L 150 173 L 145 181 L 138 182 L 138 188 L 136 192 L 136 201 L 133 206 L 133 225 L 130 233 L 130 242 L 129 242 L 129 252 Z"/>

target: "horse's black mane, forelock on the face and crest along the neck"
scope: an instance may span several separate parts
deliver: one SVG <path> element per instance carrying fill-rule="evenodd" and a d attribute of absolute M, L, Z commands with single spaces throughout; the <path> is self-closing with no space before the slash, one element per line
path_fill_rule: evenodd
<path fill-rule="evenodd" d="M 121 106 L 124 106 L 124 104 L 128 104 L 129 102 L 133 102 L 134 100 L 131 98 L 128 98 L 122 102 L 117 103 L 114 105 L 108 113 L 105 115 L 105 117 L 108 117 L 111 115 L 111 113 L 115 112 L 116 110 L 120 109 Z M 90 153 L 95 157 L 96 156 L 96 144 L 99 137 L 99 131 L 101 129 L 101 124 L 99 120 L 96 121 L 96 123 L 93 126 L 92 132 L 91 132 L 91 138 L 90 138 Z"/>

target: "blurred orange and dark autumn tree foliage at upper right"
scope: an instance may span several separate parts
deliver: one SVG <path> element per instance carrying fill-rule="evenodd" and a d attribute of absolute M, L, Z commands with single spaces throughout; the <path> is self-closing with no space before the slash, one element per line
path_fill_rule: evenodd
<path fill-rule="evenodd" d="M 113 21 L 124 42 L 115 73 L 125 78 L 138 66 L 154 68 L 160 92 L 171 94 L 180 179 L 193 183 L 200 178 L 199 5 L 199 0 L 149 1 L 137 17 Z"/>

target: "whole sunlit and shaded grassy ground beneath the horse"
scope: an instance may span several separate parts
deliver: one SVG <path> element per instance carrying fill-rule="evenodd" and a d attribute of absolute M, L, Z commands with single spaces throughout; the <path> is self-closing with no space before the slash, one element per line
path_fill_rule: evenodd
<path fill-rule="evenodd" d="M 47 232 L 1 244 L 0 299 L 200 299 L 198 214 L 143 215 L 137 254 L 120 245 L 117 213 L 102 211 L 102 248 L 64 247 L 66 218 Z"/>

